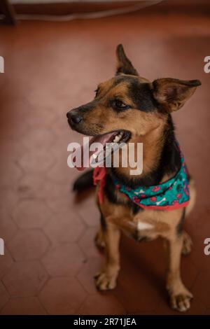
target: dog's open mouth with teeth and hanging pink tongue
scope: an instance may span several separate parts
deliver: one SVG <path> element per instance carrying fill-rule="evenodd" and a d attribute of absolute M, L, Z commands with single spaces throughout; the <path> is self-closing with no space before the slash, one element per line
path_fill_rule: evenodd
<path fill-rule="evenodd" d="M 85 167 L 89 167 L 93 162 L 99 165 L 104 162 L 108 156 L 125 145 L 130 137 L 131 132 L 128 130 L 115 130 L 113 132 L 92 137 L 87 144 L 76 149 L 76 156 L 78 154 L 77 152 L 79 152 L 81 162 L 79 166 L 76 164 L 75 167 L 78 170 L 83 170 Z M 97 145 L 94 143 L 99 143 L 101 147 L 94 148 L 94 146 Z M 84 156 L 87 154 L 88 156 Z"/>

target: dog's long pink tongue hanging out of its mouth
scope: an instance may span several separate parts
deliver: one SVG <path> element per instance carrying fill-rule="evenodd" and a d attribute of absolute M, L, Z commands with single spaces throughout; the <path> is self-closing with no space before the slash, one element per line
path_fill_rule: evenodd
<path fill-rule="evenodd" d="M 102 136 L 97 136 L 97 137 L 92 137 L 92 139 L 90 139 L 89 143 L 87 142 L 87 144 L 85 144 L 84 146 L 79 146 L 78 148 L 76 148 L 75 151 L 75 157 L 73 158 L 73 162 L 75 161 L 75 158 L 79 157 L 81 155 L 81 165 L 78 167 L 75 164 L 76 169 L 78 169 L 79 171 L 83 171 L 85 168 L 89 167 L 90 165 L 90 158 L 92 158 L 92 155 L 95 154 L 97 155 L 99 153 L 99 150 L 94 150 L 94 151 L 90 151 L 90 146 L 93 143 L 101 143 L 103 145 L 103 147 L 106 145 L 106 143 L 109 143 L 111 141 L 113 141 L 113 138 L 116 136 L 117 132 L 110 132 L 109 134 L 105 134 Z M 86 155 L 84 157 L 84 155 Z"/>

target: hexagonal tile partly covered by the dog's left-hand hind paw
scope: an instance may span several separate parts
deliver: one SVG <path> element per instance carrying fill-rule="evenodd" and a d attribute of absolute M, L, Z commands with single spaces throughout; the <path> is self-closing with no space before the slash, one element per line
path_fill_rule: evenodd
<path fill-rule="evenodd" d="M 99 257 L 101 254 L 101 251 L 99 251 L 97 246 L 94 244 L 94 237 L 96 233 L 97 228 L 88 228 L 78 242 L 85 255 L 90 258 Z"/>

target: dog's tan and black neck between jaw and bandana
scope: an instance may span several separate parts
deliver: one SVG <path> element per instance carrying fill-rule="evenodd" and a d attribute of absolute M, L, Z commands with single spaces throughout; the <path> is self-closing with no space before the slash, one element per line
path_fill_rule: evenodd
<path fill-rule="evenodd" d="M 153 186 L 169 179 L 179 170 L 180 153 L 174 135 L 172 116 L 165 124 L 156 128 L 144 137 L 132 139 L 132 142 L 143 143 L 143 172 L 130 175 L 132 168 L 111 168 L 111 175 L 130 188 Z"/>

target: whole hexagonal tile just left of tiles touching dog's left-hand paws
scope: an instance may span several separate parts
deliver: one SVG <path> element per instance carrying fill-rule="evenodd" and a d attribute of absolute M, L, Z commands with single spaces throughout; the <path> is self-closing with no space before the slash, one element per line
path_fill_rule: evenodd
<path fill-rule="evenodd" d="M 62 244 L 51 248 L 42 263 L 51 276 L 73 276 L 83 265 L 85 257 L 77 244 Z"/>

